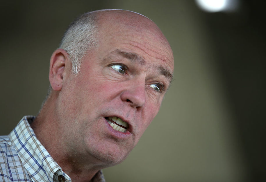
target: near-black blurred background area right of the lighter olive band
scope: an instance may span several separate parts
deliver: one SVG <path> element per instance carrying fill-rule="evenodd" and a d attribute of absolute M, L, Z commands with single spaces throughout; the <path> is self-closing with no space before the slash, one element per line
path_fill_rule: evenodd
<path fill-rule="evenodd" d="M 217 66 L 247 159 L 249 181 L 264 181 L 266 109 L 265 1 L 240 1 L 232 14 L 205 14 Z"/>

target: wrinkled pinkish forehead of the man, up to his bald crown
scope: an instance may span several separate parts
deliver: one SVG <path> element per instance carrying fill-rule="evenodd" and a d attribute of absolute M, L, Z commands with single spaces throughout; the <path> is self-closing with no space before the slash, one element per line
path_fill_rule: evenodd
<path fill-rule="evenodd" d="M 113 45 L 132 44 L 147 54 L 158 56 L 174 69 L 173 53 L 167 39 L 147 17 L 131 11 L 111 10 L 101 12 L 98 23 L 101 39 L 109 39 Z"/>

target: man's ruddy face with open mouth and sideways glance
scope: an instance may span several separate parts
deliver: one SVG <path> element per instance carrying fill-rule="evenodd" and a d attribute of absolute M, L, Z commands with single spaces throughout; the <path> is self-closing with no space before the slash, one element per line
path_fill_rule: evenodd
<path fill-rule="evenodd" d="M 99 37 L 97 48 L 82 58 L 80 73 L 66 74 L 58 119 L 71 133 L 66 139 L 70 149 L 114 165 L 126 158 L 158 113 L 173 57 L 160 35 L 145 29 L 108 24 L 101 26 Z"/>

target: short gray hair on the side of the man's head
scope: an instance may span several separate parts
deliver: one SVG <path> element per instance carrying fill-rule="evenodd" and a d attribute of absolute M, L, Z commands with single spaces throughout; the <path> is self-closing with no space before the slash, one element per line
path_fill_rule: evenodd
<path fill-rule="evenodd" d="M 59 48 L 64 49 L 72 62 L 72 72 L 78 74 L 81 58 L 97 45 L 97 17 L 87 12 L 76 18 L 65 31 Z"/>

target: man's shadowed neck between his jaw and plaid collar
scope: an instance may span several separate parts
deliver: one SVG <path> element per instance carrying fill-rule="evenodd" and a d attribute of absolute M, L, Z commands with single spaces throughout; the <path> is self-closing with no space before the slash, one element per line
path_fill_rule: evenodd
<path fill-rule="evenodd" d="M 31 127 L 38 140 L 72 181 L 90 181 L 104 167 L 99 165 L 101 161 L 94 156 L 69 147 L 67 140 L 72 133 L 60 130 L 55 97 L 56 94 L 52 93 Z"/>

